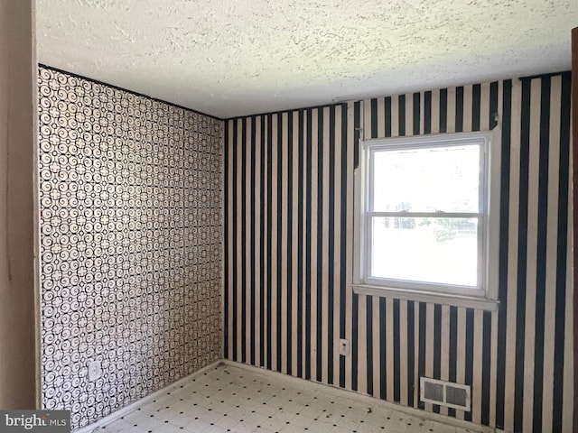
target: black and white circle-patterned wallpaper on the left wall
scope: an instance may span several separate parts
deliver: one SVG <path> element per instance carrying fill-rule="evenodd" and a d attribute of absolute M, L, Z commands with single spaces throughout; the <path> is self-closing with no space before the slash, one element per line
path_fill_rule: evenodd
<path fill-rule="evenodd" d="M 42 404 L 79 428 L 221 358 L 223 125 L 45 67 L 39 104 Z"/>

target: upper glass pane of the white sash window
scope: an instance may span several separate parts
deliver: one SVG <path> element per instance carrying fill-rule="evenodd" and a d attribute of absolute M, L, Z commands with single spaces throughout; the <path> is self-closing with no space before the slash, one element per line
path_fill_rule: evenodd
<path fill-rule="evenodd" d="M 378 212 L 480 212 L 478 144 L 376 151 L 373 209 Z"/>

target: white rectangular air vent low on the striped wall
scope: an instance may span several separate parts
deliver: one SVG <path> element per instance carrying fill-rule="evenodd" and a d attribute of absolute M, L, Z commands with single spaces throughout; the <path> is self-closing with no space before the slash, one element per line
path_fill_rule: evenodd
<path fill-rule="evenodd" d="M 471 410 L 471 387 L 461 383 L 439 381 L 429 377 L 419 378 L 420 399 L 426 403 L 448 408 Z"/>

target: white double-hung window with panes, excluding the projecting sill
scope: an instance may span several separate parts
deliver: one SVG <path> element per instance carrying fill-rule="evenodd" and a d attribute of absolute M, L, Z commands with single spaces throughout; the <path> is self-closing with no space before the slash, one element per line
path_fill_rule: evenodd
<path fill-rule="evenodd" d="M 491 135 L 362 143 L 360 286 L 493 298 Z"/>

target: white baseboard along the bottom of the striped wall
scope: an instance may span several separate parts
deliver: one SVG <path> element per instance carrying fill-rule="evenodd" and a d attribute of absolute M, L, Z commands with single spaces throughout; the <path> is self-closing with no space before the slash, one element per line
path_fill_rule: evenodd
<path fill-rule="evenodd" d="M 482 426 L 480 424 L 475 424 L 473 422 L 465 421 L 462 419 L 455 419 L 455 418 L 446 417 L 446 416 L 443 416 L 443 415 L 440 415 L 437 413 L 426 412 L 425 410 L 418 410 L 415 408 L 409 408 L 407 406 L 402 406 L 401 404 L 390 403 L 388 401 L 380 400 L 380 399 L 377 399 L 375 397 L 372 397 L 368 394 L 364 394 L 361 392 L 344 390 L 343 388 L 340 388 L 338 386 L 329 385 L 329 384 L 322 383 L 322 382 L 307 381 L 307 380 L 302 379 L 300 377 L 295 377 L 295 376 L 291 376 L 289 374 L 284 374 L 284 373 L 273 372 L 271 370 L 256 367 L 254 365 L 242 364 L 242 363 L 237 363 L 237 362 L 229 361 L 229 360 L 223 360 L 222 364 L 226 364 L 226 365 L 230 365 L 230 366 L 234 366 L 234 367 L 239 367 L 239 368 L 245 369 L 247 371 L 250 371 L 252 373 L 261 373 L 265 376 L 275 378 L 277 380 L 284 380 L 286 382 L 294 382 L 295 384 L 303 384 L 303 382 L 306 382 L 308 384 L 311 384 L 314 387 L 317 387 L 319 390 L 322 390 L 323 392 L 331 392 L 335 396 L 340 396 L 340 397 L 343 397 L 344 393 L 345 393 L 347 395 L 347 397 L 353 398 L 356 400 L 365 401 L 369 406 L 381 407 L 381 408 L 388 409 L 388 410 L 397 410 L 399 412 L 404 412 L 404 413 L 406 413 L 412 417 L 415 417 L 417 419 L 436 421 L 436 422 L 440 422 L 442 424 L 446 424 L 448 426 L 465 428 L 465 429 L 468 429 L 470 431 L 475 431 L 475 432 L 479 432 L 479 433 L 503 433 L 503 430 L 500 430 L 499 428 Z"/>

